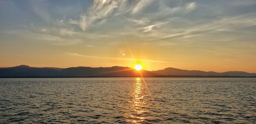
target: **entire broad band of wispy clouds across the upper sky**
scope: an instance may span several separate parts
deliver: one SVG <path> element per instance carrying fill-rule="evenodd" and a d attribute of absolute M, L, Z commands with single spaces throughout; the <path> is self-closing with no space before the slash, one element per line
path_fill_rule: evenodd
<path fill-rule="evenodd" d="M 221 3 L 223 3 L 222 6 L 232 5 L 232 8 L 236 5 L 241 7 L 250 6 L 249 3 L 254 4 L 255 2 L 247 0 L 241 3 L 239 0 L 233 0 L 232 2 Z M 212 9 L 215 11 L 225 11 L 225 9 L 213 6 L 212 9 L 208 10 L 212 6 L 211 2 L 94 0 L 92 5 L 76 11 L 76 15 L 61 15 L 58 19 L 51 18 L 58 17 L 58 15 L 54 16 L 52 10 L 56 8 L 50 8 L 52 5 L 50 1 L 31 1 L 30 4 L 35 14 L 47 24 L 29 22 L 31 25 L 22 30 L 11 29 L 12 31 L 5 32 L 23 35 L 25 38 L 50 41 L 51 44 L 61 44 L 61 41 L 66 45 L 85 42 L 85 45 L 92 46 L 94 46 L 92 41 L 122 42 L 118 38 L 127 36 L 146 40 L 146 42 L 143 42 L 147 45 L 159 40 L 173 45 L 174 43 L 170 43 L 172 39 L 176 41 L 189 40 L 195 37 L 206 39 L 206 37 L 219 36 L 219 32 L 226 34 L 229 32 L 230 35 L 223 34 L 216 41 L 230 41 L 238 37 L 244 37 L 241 35 L 231 37 L 231 32 L 255 34 L 255 31 L 251 31 L 253 29 L 250 28 L 250 26 L 256 25 L 256 13 L 254 11 L 246 14 L 218 13 L 214 15 L 211 13 Z M 147 8 L 148 6 L 153 8 Z M 58 7 L 58 9 L 63 8 L 64 6 Z M 83 9 L 85 11 L 81 11 Z M 143 11 L 143 9 L 147 11 Z M 76 9 L 69 10 L 74 11 Z M 245 28 L 250 28 L 250 30 Z"/>

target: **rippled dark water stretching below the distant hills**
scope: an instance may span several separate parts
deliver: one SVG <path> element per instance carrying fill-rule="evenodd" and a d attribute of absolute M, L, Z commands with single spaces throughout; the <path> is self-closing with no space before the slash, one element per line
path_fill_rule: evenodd
<path fill-rule="evenodd" d="M 256 78 L 0 79 L 0 123 L 256 123 Z"/>

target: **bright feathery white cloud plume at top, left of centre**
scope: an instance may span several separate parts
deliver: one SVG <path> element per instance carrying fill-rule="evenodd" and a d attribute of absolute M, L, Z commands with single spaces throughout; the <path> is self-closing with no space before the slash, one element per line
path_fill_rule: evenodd
<path fill-rule="evenodd" d="M 105 23 L 108 17 L 114 17 L 130 10 L 133 14 L 137 13 L 152 3 L 152 0 L 139 0 L 134 3 L 134 6 L 127 3 L 127 0 L 94 0 L 93 5 L 80 15 L 78 21 L 70 19 L 69 23 L 79 25 L 85 31 L 93 25 Z M 131 19 L 130 21 L 136 20 Z"/>

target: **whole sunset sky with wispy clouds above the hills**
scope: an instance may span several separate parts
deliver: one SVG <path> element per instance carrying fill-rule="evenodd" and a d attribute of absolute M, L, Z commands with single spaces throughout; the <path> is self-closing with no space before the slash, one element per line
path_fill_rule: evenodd
<path fill-rule="evenodd" d="M 0 0 L 0 67 L 256 73 L 256 0 Z"/>

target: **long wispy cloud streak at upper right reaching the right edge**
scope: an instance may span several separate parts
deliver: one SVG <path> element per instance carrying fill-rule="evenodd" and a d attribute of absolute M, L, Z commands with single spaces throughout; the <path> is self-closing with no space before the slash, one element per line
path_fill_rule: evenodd
<path fill-rule="evenodd" d="M 189 6 L 189 4 L 188 4 Z M 180 21 L 180 25 L 176 26 L 172 24 L 177 24 Z M 159 23 L 161 25 L 161 23 Z M 175 38 L 175 40 L 183 41 L 185 39 L 191 39 L 192 37 L 197 37 L 199 39 L 207 38 L 207 40 L 218 41 L 234 41 L 240 36 L 231 37 L 233 33 L 243 33 L 243 34 L 253 34 L 252 31 L 245 32 L 243 28 L 248 28 L 250 26 L 256 25 L 256 13 L 243 14 L 238 16 L 224 16 L 218 17 L 211 20 L 205 20 L 201 23 L 191 22 L 190 20 L 176 18 L 175 20 L 169 20 L 169 25 L 159 26 L 156 23 L 153 25 L 148 25 L 139 30 L 142 32 L 147 32 L 147 34 L 137 34 L 140 37 L 146 38 L 148 41 L 162 40 L 170 42 L 170 38 Z M 159 30 L 153 30 L 154 28 L 159 28 Z M 243 30 L 242 30 L 243 29 Z M 216 39 L 218 33 L 228 34 L 222 35 Z M 209 38 L 211 37 L 211 38 Z M 215 37 L 215 38 L 213 38 Z M 169 41 L 167 41 L 167 39 Z M 169 43 L 168 43 L 169 44 Z"/>

